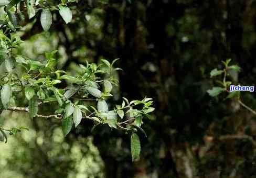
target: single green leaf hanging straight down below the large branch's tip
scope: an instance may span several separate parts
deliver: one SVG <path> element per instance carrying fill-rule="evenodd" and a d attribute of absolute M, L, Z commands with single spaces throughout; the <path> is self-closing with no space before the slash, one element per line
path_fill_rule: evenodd
<path fill-rule="evenodd" d="M 140 138 L 138 138 L 136 133 L 133 133 L 131 135 L 131 153 L 132 153 L 132 161 L 136 161 L 140 159 L 141 142 L 140 142 Z"/>

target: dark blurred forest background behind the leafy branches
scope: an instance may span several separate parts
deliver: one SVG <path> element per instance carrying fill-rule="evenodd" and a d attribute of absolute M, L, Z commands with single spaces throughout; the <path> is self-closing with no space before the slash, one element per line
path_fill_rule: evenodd
<path fill-rule="evenodd" d="M 256 1 L 83 0 L 69 7 L 71 23 L 56 13 L 49 32 L 39 14 L 25 21 L 19 53 L 44 60 L 46 51 L 58 50 L 58 68 L 73 73 L 85 59 L 120 58 L 120 85 L 109 102 L 154 99 L 147 137 L 140 135 L 141 159 L 131 161 L 130 138 L 118 130 L 91 132 L 91 121 L 83 121 L 63 138 L 59 124 L 5 111 L 5 126 L 30 131 L 1 143 L 1 177 L 256 176 L 255 115 L 206 92 L 216 84 L 210 71 L 227 58 L 242 69 L 234 82 L 255 85 Z M 254 93 L 241 99 L 256 108 Z"/>

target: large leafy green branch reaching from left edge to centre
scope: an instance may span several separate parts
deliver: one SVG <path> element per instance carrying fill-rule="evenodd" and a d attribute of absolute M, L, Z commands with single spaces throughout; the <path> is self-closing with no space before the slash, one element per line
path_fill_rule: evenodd
<path fill-rule="evenodd" d="M 95 63 L 80 64 L 80 72 L 75 76 L 66 71 L 57 70 L 55 54 L 57 51 L 46 52 L 46 61 L 37 61 L 14 54 L 13 48 L 22 41 L 15 35 L 7 37 L 0 30 L 1 65 L 3 73 L 0 79 L 2 109 L 28 112 L 30 118 L 55 118 L 61 120 L 63 134 L 66 136 L 72 127 L 77 127 L 82 119 L 91 119 L 95 126 L 108 124 L 110 128 L 122 129 L 131 133 L 132 158 L 140 155 L 140 140 L 136 135 L 141 128 L 145 116 L 153 112 L 152 98 L 142 101 L 131 101 L 123 98 L 122 105 L 109 109 L 106 99 L 112 97 L 113 85 L 118 80 L 113 73 L 121 70 L 114 68 L 113 60 L 101 60 Z M 22 101 L 22 102 L 20 102 Z M 84 104 L 85 101 L 97 102 L 97 108 Z M 45 103 L 56 102 L 58 108 L 51 115 L 39 114 L 39 107 Z M 142 105 L 142 109 L 134 106 Z M 13 130 L 0 128 L 1 140 L 6 137 L 4 131 Z"/>

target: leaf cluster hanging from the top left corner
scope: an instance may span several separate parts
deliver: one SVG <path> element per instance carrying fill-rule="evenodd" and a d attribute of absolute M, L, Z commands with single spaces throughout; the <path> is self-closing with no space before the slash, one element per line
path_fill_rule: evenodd
<path fill-rule="evenodd" d="M 79 0 L 61 0 L 57 5 L 53 1 L 43 0 L 2 0 L 0 2 L 0 27 L 16 31 L 25 19 L 31 19 L 36 13 L 41 13 L 40 21 L 42 28 L 47 31 L 52 24 L 52 12 L 58 11 L 66 24 L 72 20 L 72 11 L 67 6 L 68 3 Z"/>

